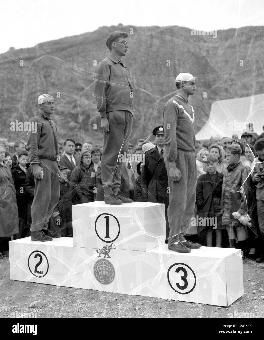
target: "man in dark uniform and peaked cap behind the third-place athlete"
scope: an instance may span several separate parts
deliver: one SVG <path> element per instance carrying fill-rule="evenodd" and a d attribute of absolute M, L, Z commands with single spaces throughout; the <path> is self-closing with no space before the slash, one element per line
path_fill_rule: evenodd
<path fill-rule="evenodd" d="M 163 203 L 165 205 L 166 218 L 166 243 L 169 236 L 170 226 L 168 221 L 168 174 L 163 159 L 164 129 L 157 126 L 152 134 L 155 136 L 156 147 L 145 153 L 145 164 L 141 171 L 143 187 L 147 189 L 148 202 Z"/>

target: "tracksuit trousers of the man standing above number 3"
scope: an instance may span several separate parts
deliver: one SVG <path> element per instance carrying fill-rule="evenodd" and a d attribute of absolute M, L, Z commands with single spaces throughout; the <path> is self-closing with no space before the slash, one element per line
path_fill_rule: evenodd
<path fill-rule="evenodd" d="M 164 160 L 166 159 L 164 150 Z M 165 161 L 168 172 L 169 198 L 168 219 L 170 224 L 170 235 L 168 245 L 183 241 L 183 234 L 191 225 L 196 200 L 196 160 L 194 151 L 183 151 L 178 149 L 176 167 L 181 172 L 181 179 L 172 182 L 169 176 L 169 163 Z"/>

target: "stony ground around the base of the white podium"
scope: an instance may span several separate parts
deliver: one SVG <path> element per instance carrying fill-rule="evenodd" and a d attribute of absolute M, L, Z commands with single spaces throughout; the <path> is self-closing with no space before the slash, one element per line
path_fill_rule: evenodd
<path fill-rule="evenodd" d="M 13 281 L 9 278 L 8 252 L 4 252 L 0 256 L 0 318 L 263 318 L 261 266 L 247 260 L 243 265 L 244 295 L 229 307 L 217 307 Z"/>

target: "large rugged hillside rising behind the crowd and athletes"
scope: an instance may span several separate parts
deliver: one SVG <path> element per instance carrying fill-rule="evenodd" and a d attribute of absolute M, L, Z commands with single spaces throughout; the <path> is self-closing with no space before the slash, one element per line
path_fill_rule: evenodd
<path fill-rule="evenodd" d="M 222 30 L 214 38 L 191 35 L 190 29 L 177 26 L 104 26 L 0 54 L 1 137 L 26 139 L 26 132 L 11 132 L 10 123 L 38 114 L 37 97 L 49 93 L 55 98 L 54 118 L 61 141 L 67 137 L 76 142 L 100 141 L 100 116 L 92 95 L 94 61 L 99 63 L 108 54 L 105 41 L 111 32 L 121 29 L 129 33 L 130 28 L 134 32 L 127 38 L 130 47 L 123 62 L 135 89 L 133 141 L 148 137 L 162 122 L 162 107 L 175 91 L 179 72 L 197 77 L 196 94 L 190 98 L 196 132 L 207 121 L 215 100 L 263 93 L 263 27 Z"/>

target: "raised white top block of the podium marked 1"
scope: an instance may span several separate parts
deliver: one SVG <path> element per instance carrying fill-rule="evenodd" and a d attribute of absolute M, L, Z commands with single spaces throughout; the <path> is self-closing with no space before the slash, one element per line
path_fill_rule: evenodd
<path fill-rule="evenodd" d="M 72 206 L 73 245 L 147 251 L 165 242 L 164 204 L 92 202 Z"/>

